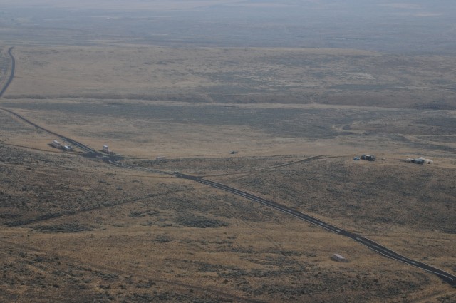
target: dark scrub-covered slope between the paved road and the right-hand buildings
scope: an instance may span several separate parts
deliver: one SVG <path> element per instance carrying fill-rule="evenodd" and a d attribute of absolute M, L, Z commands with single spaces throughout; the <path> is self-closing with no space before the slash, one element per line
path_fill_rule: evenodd
<path fill-rule="evenodd" d="M 249 188 L 298 210 L 350 221 L 362 232 L 403 225 L 454 234 L 455 168 L 411 165 L 400 159 L 330 158 L 266 172 L 213 177 Z"/>

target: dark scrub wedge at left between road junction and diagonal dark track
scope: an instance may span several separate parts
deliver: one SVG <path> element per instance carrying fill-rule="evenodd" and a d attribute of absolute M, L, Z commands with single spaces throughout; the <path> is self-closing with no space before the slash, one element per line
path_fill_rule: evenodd
<path fill-rule="evenodd" d="M 0 150 L 4 176 L 0 185 L 0 222 L 4 225 L 27 225 L 186 190 L 185 186 L 173 188 L 167 184 L 152 189 L 140 180 L 125 183 L 129 176 L 105 173 L 100 163 L 71 155 L 46 155 L 5 145 Z M 90 169 L 81 171 L 84 162 Z M 24 175 L 28 175 L 26 182 Z"/>

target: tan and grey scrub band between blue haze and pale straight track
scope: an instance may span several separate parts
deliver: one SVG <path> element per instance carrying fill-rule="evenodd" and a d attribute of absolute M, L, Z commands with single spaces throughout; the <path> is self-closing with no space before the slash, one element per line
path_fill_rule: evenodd
<path fill-rule="evenodd" d="M 18 78 L 6 98 L 455 109 L 451 56 L 165 46 L 18 46 L 14 53 Z"/>

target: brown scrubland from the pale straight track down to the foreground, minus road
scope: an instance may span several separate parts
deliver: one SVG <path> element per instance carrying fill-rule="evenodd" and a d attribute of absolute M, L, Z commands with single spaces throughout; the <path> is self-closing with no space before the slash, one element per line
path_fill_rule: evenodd
<path fill-rule="evenodd" d="M 423 121 L 447 119 L 422 138 L 416 115 L 388 108 L 89 99 L 2 106 L 95 148 L 108 143 L 130 165 L 208 175 L 456 271 L 455 188 L 447 182 L 455 178 L 454 145 L 435 140 L 438 133 L 451 137 L 452 111 L 415 110 Z M 38 293 L 42 302 L 64 302 L 76 292 L 81 302 L 456 297 L 437 277 L 351 240 L 204 185 L 56 153 L 48 146 L 53 136 L 4 111 L 0 116 L 5 300 L 33 294 L 36 301 Z M 388 128 L 392 117 L 402 123 Z M 380 121 L 381 132 L 360 126 Z M 336 158 L 271 168 L 336 150 Z M 365 150 L 388 160 L 351 160 Z M 415 153 L 435 164 L 400 161 Z M 334 252 L 350 262 L 331 261 Z"/>

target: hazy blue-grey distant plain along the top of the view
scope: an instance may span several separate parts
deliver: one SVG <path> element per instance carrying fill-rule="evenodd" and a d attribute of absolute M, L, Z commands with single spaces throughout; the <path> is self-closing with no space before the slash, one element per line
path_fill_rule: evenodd
<path fill-rule="evenodd" d="M 73 45 L 356 48 L 447 54 L 456 5 L 447 0 L 1 0 L 1 39 Z"/>

